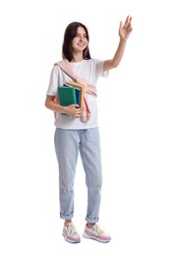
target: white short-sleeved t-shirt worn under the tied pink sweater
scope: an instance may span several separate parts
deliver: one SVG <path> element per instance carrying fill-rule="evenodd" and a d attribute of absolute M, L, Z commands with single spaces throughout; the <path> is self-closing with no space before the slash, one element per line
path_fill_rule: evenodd
<path fill-rule="evenodd" d="M 84 78 L 89 85 L 96 87 L 98 77 L 107 77 L 108 72 L 103 71 L 103 60 L 88 59 L 81 62 L 71 62 L 72 69 L 75 73 Z M 58 96 L 58 87 L 71 81 L 65 72 L 63 72 L 58 65 L 55 65 L 50 74 L 50 82 L 47 90 L 47 96 Z M 61 129 L 89 129 L 98 126 L 97 116 L 97 98 L 96 96 L 87 95 L 88 106 L 90 109 L 90 118 L 83 122 L 80 118 L 74 118 L 69 115 L 57 114 L 55 119 L 55 126 Z"/>

